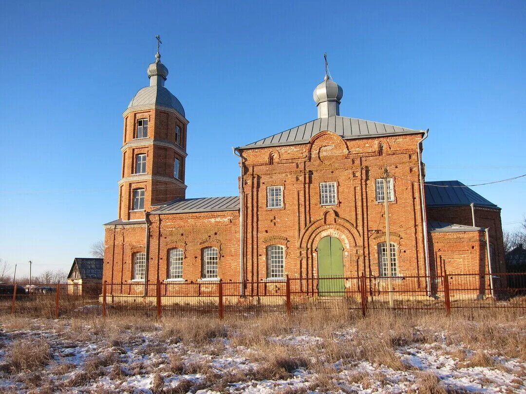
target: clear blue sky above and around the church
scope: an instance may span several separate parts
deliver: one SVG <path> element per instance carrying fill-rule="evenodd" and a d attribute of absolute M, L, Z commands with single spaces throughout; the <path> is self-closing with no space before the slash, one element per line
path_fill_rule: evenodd
<path fill-rule="evenodd" d="M 438 4 L 440 3 L 440 4 Z M 0 258 L 69 269 L 117 217 L 122 112 L 155 38 L 188 126 L 187 195 L 237 194 L 231 147 L 341 115 L 430 129 L 427 180 L 526 173 L 526 2 L 3 2 Z M 526 212 L 526 179 L 474 188 Z M 511 222 L 511 223 L 510 223 Z"/>

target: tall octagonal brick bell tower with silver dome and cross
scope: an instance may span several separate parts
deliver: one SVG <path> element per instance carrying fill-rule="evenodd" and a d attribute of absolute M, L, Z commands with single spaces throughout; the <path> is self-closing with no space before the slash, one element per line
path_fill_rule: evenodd
<path fill-rule="evenodd" d="M 144 219 L 155 205 L 185 198 L 188 120 L 177 97 L 164 86 L 168 68 L 157 54 L 148 66 L 150 85 L 140 89 L 123 113 L 123 165 L 118 217 Z"/>

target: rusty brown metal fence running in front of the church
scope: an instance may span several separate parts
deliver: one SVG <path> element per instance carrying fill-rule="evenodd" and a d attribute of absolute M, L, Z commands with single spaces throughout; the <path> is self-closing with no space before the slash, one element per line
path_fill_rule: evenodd
<path fill-rule="evenodd" d="M 0 285 L 0 313 L 31 317 L 257 315 L 302 310 L 526 311 L 526 273 L 292 278 L 260 282 Z"/>

